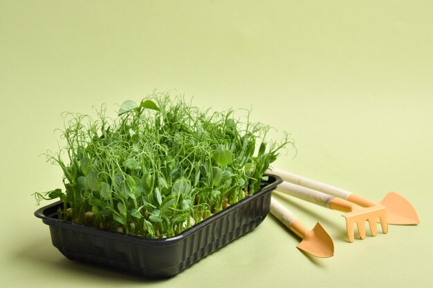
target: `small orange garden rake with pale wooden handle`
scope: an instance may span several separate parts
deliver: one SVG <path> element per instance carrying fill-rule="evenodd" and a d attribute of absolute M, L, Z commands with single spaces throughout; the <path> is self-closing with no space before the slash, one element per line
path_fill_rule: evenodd
<path fill-rule="evenodd" d="M 299 186 L 289 182 L 282 182 L 277 186 L 277 191 L 292 195 L 296 198 L 318 204 L 333 210 L 346 212 L 342 214 L 346 218 L 347 238 L 353 242 L 355 238 L 354 227 L 358 227 L 358 233 L 361 239 L 365 238 L 365 221 L 369 222 L 371 236 L 376 236 L 377 227 L 376 219 L 380 219 L 383 233 L 387 233 L 387 211 L 385 207 L 360 207 L 347 200 L 328 195 L 320 191 Z"/>

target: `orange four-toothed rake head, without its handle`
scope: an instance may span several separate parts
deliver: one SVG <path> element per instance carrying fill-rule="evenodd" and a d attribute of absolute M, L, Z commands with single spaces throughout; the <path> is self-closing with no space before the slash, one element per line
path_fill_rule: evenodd
<path fill-rule="evenodd" d="M 344 213 L 342 216 L 346 218 L 347 237 L 349 238 L 349 242 L 353 242 L 355 239 L 355 224 L 358 227 L 360 238 L 365 238 L 365 221 L 369 222 L 371 236 L 376 236 L 377 234 L 378 229 L 376 225 L 378 220 L 383 233 L 388 232 L 387 209 L 382 205 L 377 205 L 375 207 L 362 207 L 349 213 Z"/>

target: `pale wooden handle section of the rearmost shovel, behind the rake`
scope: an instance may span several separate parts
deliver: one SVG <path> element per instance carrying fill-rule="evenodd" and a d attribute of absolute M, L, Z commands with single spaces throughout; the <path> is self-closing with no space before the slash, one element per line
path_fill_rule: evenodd
<path fill-rule="evenodd" d="M 344 189 L 340 189 L 338 187 L 331 186 L 329 184 L 308 179 L 306 177 L 302 177 L 300 175 L 296 175 L 288 171 L 283 171 L 281 169 L 273 168 L 270 171 L 268 171 L 268 173 L 274 173 L 275 175 L 282 177 L 284 181 L 291 182 L 293 184 L 304 186 L 310 189 L 314 189 L 329 195 L 333 195 L 338 198 L 347 199 L 349 195 L 351 195 L 351 192 L 346 191 Z"/>

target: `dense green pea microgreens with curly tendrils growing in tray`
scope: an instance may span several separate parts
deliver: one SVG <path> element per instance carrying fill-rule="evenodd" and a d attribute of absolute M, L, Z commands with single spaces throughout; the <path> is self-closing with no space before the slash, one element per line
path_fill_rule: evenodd
<path fill-rule="evenodd" d="M 59 219 L 147 238 L 174 236 L 256 193 L 293 144 L 287 135 L 266 142 L 269 127 L 249 114 L 241 122 L 167 93 L 126 101 L 115 119 L 103 107 L 97 119 L 68 114 L 65 123 L 66 146 L 47 155 L 65 191 L 35 193 L 37 202 L 59 198 Z"/>

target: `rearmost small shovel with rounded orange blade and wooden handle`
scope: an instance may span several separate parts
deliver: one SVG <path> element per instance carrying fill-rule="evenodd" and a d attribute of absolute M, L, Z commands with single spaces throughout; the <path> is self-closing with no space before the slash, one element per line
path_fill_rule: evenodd
<path fill-rule="evenodd" d="M 362 198 L 360 195 L 356 195 L 349 191 L 318 182 L 294 173 L 283 171 L 281 169 L 273 168 L 270 173 L 274 173 L 282 177 L 284 181 L 298 184 L 301 186 L 308 187 L 310 189 L 315 189 L 323 193 L 333 195 L 338 198 L 342 198 L 349 202 L 353 202 L 362 207 L 378 207 L 383 206 L 387 209 L 387 221 L 388 224 L 394 225 L 416 225 L 419 223 L 418 215 L 409 201 L 403 196 L 395 192 L 389 192 L 385 195 L 382 201 L 379 203 Z"/>

